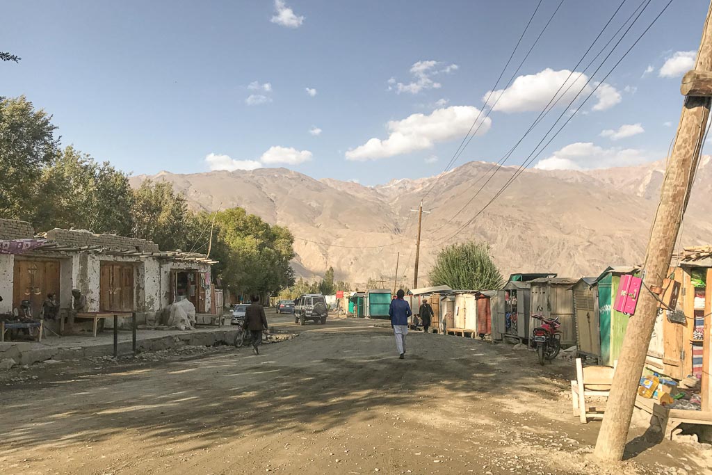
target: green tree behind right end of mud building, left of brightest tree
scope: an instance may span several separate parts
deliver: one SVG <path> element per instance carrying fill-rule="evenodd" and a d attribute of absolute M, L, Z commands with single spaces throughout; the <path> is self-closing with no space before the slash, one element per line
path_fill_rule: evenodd
<path fill-rule="evenodd" d="M 135 190 L 131 236 L 150 239 L 164 251 L 184 249 L 189 236 L 188 204 L 167 182 L 146 180 Z"/>

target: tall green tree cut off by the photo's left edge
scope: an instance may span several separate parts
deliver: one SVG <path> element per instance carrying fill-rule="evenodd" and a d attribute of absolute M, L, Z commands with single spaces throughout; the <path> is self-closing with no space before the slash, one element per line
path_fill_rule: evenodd
<path fill-rule="evenodd" d="M 51 119 L 25 96 L 0 99 L 0 216 L 6 219 L 32 221 L 33 210 L 48 200 L 39 185 L 58 155 Z"/>

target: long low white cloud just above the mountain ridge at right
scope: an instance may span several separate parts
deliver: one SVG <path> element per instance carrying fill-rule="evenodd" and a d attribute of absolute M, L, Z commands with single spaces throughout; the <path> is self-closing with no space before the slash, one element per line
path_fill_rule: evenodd
<path fill-rule="evenodd" d="M 557 150 L 548 158 L 540 160 L 535 168 L 554 169 L 593 169 L 609 167 L 627 167 L 644 162 L 641 150 L 622 149 L 619 147 L 602 148 L 592 142 L 576 142 Z"/>

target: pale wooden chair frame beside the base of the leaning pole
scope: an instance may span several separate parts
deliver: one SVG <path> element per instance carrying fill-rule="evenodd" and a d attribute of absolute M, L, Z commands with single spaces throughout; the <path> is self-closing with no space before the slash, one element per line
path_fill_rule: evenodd
<path fill-rule="evenodd" d="M 576 380 L 571 382 L 571 402 L 574 416 L 586 424 L 588 419 L 602 419 L 604 407 L 587 407 L 586 396 L 608 397 L 613 384 L 617 361 L 610 366 L 584 367 L 581 358 L 576 358 Z"/>

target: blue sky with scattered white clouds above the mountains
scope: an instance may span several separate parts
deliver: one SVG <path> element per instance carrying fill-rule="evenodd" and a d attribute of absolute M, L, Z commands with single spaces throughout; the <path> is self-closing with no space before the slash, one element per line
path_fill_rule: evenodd
<path fill-rule="evenodd" d="M 363 184 L 429 176 L 483 110 L 537 3 L 6 1 L 17 20 L 4 22 L 0 51 L 22 61 L 0 63 L 0 95 L 26 95 L 54 115 L 64 145 L 135 174 L 285 166 Z M 666 3 L 651 2 L 612 59 Z M 543 0 L 498 89 L 558 4 Z M 512 147 L 618 4 L 564 2 L 458 165 Z M 625 2 L 606 41 L 639 4 Z M 707 7 L 674 1 L 532 165 L 664 157 Z M 570 90 L 585 83 L 580 71 Z M 508 164 L 523 162 L 550 120 Z"/>

